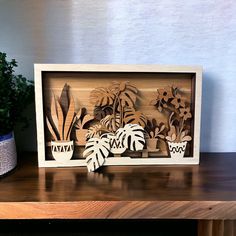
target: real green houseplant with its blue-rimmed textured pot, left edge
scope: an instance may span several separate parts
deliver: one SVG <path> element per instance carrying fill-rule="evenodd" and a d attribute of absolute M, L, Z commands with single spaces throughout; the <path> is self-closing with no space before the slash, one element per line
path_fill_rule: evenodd
<path fill-rule="evenodd" d="M 15 67 L 17 62 L 0 52 L 0 175 L 17 165 L 14 128 L 21 122 L 27 125 L 23 112 L 34 98 L 33 82 L 16 75 Z"/>

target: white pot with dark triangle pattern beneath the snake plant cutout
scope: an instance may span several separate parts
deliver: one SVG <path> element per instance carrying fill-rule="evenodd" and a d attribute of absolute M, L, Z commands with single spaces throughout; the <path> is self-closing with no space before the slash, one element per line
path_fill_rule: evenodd
<path fill-rule="evenodd" d="M 74 141 L 51 141 L 51 150 L 56 161 L 66 164 L 73 156 Z"/>

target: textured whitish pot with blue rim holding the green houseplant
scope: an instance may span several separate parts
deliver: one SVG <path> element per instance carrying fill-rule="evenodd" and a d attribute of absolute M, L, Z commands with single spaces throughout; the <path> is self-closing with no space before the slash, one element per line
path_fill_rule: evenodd
<path fill-rule="evenodd" d="M 0 136 L 0 175 L 14 169 L 17 165 L 16 145 L 13 132 Z"/>

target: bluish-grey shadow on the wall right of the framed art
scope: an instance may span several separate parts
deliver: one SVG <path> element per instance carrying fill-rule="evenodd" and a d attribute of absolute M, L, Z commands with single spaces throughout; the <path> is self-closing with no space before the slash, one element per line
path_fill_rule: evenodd
<path fill-rule="evenodd" d="M 212 146 L 213 108 L 216 96 L 215 81 L 210 73 L 203 73 L 202 80 L 202 111 L 201 111 L 201 152 L 208 152 Z"/>

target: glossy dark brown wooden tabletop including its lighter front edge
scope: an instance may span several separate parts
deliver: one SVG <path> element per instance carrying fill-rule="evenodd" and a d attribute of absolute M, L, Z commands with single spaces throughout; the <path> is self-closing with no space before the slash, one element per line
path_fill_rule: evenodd
<path fill-rule="evenodd" d="M 236 153 L 199 166 L 38 168 L 25 153 L 0 179 L 0 219 L 236 219 Z"/>

